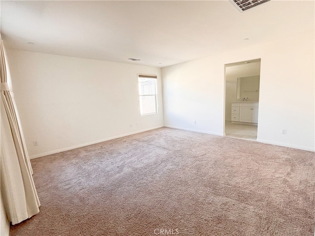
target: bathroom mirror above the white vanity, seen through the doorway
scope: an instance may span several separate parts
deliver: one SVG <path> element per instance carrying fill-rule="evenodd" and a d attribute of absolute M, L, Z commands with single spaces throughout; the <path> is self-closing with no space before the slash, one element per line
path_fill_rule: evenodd
<path fill-rule="evenodd" d="M 251 101 L 258 101 L 259 82 L 260 82 L 259 75 L 237 78 L 236 98 L 242 99 L 243 97 L 245 97 Z"/>

